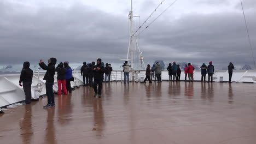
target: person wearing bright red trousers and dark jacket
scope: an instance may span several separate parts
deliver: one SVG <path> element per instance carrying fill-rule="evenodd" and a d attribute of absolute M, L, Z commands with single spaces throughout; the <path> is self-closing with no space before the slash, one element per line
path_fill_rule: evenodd
<path fill-rule="evenodd" d="M 61 85 L 62 85 L 63 93 L 67 94 L 66 77 L 65 77 L 66 69 L 63 67 L 62 62 L 60 64 L 58 64 L 55 71 L 57 71 L 58 95 L 61 95 Z"/>

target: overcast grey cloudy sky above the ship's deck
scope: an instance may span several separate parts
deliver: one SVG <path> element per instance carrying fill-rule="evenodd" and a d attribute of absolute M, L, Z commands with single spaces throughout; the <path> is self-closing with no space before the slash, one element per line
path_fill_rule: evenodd
<path fill-rule="evenodd" d="M 133 0 L 133 14 L 142 22 L 161 1 Z M 145 26 L 173 1 L 166 0 Z M 256 1 L 242 1 L 256 57 Z M 129 11 L 129 0 L 1 0 L 0 64 L 49 57 L 118 63 L 127 55 Z M 139 46 L 146 62 L 253 66 L 240 0 L 178 0 L 140 34 Z"/>

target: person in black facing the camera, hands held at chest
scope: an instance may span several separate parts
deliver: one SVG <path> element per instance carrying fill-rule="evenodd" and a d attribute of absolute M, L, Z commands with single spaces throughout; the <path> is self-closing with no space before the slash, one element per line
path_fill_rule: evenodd
<path fill-rule="evenodd" d="M 97 59 L 97 64 L 93 68 L 94 71 L 94 97 L 101 97 L 101 88 L 102 88 L 102 74 L 104 74 L 104 67 L 101 64 L 101 58 Z M 98 85 L 98 89 L 97 89 Z"/>

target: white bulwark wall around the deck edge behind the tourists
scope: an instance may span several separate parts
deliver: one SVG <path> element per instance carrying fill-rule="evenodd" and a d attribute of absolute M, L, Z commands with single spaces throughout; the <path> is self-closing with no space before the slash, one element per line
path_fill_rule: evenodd
<path fill-rule="evenodd" d="M 142 81 L 145 77 L 146 71 L 131 71 L 130 72 L 131 81 Z M 38 99 L 39 96 L 45 95 L 45 81 L 43 76 L 45 73 L 39 73 L 39 71 L 34 72 L 32 81 L 32 99 Z M 74 71 L 73 76 L 75 80 L 71 82 L 72 87 L 79 87 L 83 85 L 83 77 L 80 75 L 80 71 Z M 112 71 L 111 81 L 123 81 L 123 71 Z M 184 80 L 184 71 L 181 74 L 181 80 Z M 23 88 L 19 86 L 20 74 L 9 74 L 0 75 L 0 107 L 7 106 L 10 104 L 18 103 L 25 100 L 25 94 Z M 154 80 L 154 74 L 152 76 Z M 188 79 L 188 78 L 187 78 Z M 168 80 L 168 71 L 162 71 L 162 80 Z M 201 70 L 194 71 L 194 81 L 201 80 Z M 208 76 L 206 75 L 206 80 Z M 228 70 L 216 70 L 213 75 L 213 80 L 215 82 L 226 82 L 229 80 Z M 233 82 L 256 82 L 256 70 L 234 70 L 232 76 Z M 38 84 L 40 83 L 40 84 Z M 54 92 L 57 92 L 57 74 L 55 74 L 55 82 L 53 86 Z"/>

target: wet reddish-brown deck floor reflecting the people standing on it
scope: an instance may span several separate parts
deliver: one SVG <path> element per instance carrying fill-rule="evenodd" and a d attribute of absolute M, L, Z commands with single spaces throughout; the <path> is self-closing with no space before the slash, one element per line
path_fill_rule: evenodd
<path fill-rule="evenodd" d="M 255 84 L 103 83 L 0 115 L 1 143 L 256 143 Z M 94 129 L 95 128 L 95 129 Z M 92 130 L 94 129 L 94 130 Z"/>

